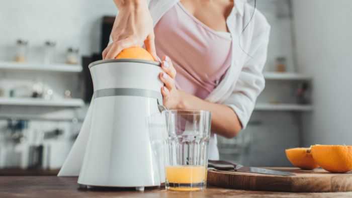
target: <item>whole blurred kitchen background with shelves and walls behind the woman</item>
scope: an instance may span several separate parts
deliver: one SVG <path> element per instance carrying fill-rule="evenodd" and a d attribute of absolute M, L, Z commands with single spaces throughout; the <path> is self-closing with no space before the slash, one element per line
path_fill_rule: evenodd
<path fill-rule="evenodd" d="M 221 158 L 290 166 L 286 148 L 352 144 L 352 1 L 256 2 L 272 26 L 267 85 L 247 129 L 218 138 Z M 56 174 L 116 12 L 113 1 L 0 2 L 0 175 Z"/>

